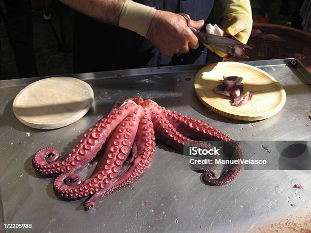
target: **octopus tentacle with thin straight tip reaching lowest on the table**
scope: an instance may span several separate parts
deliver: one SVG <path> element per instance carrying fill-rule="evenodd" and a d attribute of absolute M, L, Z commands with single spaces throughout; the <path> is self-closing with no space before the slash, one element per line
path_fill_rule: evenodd
<path fill-rule="evenodd" d="M 132 147 L 132 157 L 127 170 L 118 178 L 106 185 L 105 188 L 96 192 L 84 203 L 87 210 L 94 208 L 95 202 L 107 194 L 125 187 L 134 181 L 145 171 L 154 152 L 154 131 L 151 117 L 147 110 L 144 110 L 144 116 L 140 120 L 135 142 Z"/>

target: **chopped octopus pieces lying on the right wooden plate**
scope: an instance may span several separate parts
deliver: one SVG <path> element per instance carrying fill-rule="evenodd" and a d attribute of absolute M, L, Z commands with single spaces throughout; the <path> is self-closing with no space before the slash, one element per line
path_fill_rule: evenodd
<path fill-rule="evenodd" d="M 213 90 L 217 94 L 222 94 L 231 97 L 231 106 L 246 105 L 253 97 L 252 91 L 246 91 L 242 94 L 244 85 L 243 78 L 238 76 L 224 77 L 222 84 L 215 87 Z"/>

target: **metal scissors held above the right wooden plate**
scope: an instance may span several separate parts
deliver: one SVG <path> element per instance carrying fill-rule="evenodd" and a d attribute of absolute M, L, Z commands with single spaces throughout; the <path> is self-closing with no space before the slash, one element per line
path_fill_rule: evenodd
<path fill-rule="evenodd" d="M 225 34 L 224 36 L 217 36 L 201 32 L 190 26 L 190 16 L 188 14 L 184 13 L 179 14 L 185 17 L 188 27 L 190 27 L 193 33 L 198 37 L 199 41 L 202 42 L 203 44 L 210 45 L 213 48 L 228 53 L 232 56 L 249 58 L 244 54 L 244 52 L 245 49 L 252 49 L 252 47 L 243 44 L 232 35 Z"/>

